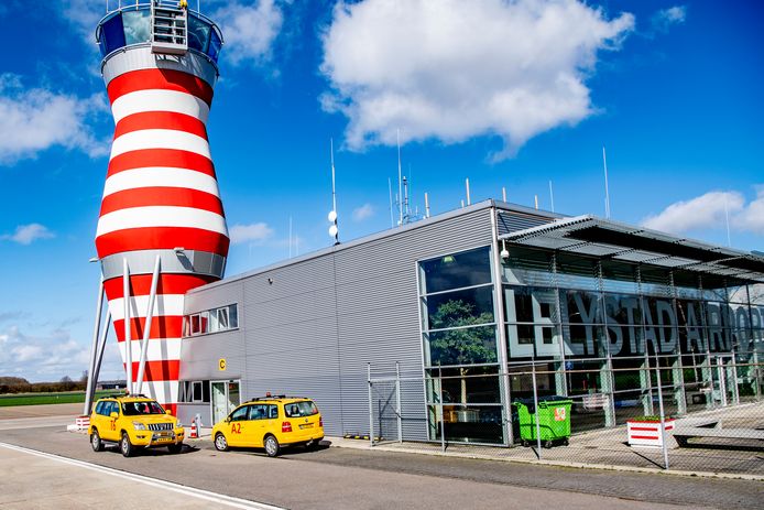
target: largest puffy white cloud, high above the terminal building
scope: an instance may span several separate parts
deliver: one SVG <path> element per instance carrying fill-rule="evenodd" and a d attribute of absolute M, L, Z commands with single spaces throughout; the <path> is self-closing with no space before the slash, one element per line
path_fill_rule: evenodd
<path fill-rule="evenodd" d="M 575 0 L 339 2 L 323 37 L 321 105 L 349 119 L 347 145 L 496 134 L 498 159 L 596 111 L 585 85 L 600 50 L 633 29 Z"/>

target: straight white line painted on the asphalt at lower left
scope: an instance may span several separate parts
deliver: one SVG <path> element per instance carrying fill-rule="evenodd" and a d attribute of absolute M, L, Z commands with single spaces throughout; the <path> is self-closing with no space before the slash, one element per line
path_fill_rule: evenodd
<path fill-rule="evenodd" d="M 83 467 L 85 469 L 90 469 L 98 473 L 105 473 L 107 475 L 116 476 L 118 478 L 124 478 L 131 481 L 138 481 L 145 484 L 148 486 L 157 487 L 160 489 L 171 490 L 173 492 L 178 492 L 186 496 L 192 496 L 194 498 L 204 499 L 206 501 L 226 504 L 232 508 L 241 508 L 247 510 L 285 510 L 283 507 L 274 507 L 272 504 L 260 503 L 257 501 L 249 501 L 247 499 L 234 498 L 232 496 L 226 496 L 218 492 L 211 492 L 209 490 L 197 489 L 195 487 L 187 487 L 179 484 L 174 484 L 172 481 L 160 480 L 157 478 L 151 478 L 143 475 L 137 475 L 134 473 L 120 471 L 119 469 L 113 469 L 106 466 L 99 466 L 97 464 L 86 463 L 84 460 L 76 460 L 74 458 L 62 457 L 61 455 L 48 454 L 46 452 L 39 452 L 36 449 L 25 448 L 23 446 L 17 446 L 8 443 L 0 443 L 0 446 L 8 449 L 14 449 L 17 452 L 36 455 L 43 458 L 50 458 L 52 460 L 57 460 L 63 464 L 69 464 L 72 466 Z"/>

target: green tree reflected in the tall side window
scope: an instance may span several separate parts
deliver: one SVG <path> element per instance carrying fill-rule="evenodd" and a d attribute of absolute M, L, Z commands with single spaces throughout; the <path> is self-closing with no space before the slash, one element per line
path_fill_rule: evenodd
<path fill-rule="evenodd" d="M 483 312 L 476 315 L 476 305 L 461 300 L 446 301 L 430 315 L 433 329 L 477 326 L 493 322 L 493 314 Z M 460 328 L 438 332 L 430 336 L 430 357 L 440 365 L 474 365 L 496 361 L 496 348 L 493 337 L 487 339 L 483 328 Z M 460 367 L 461 404 L 467 404 L 467 379 L 469 367 Z"/>

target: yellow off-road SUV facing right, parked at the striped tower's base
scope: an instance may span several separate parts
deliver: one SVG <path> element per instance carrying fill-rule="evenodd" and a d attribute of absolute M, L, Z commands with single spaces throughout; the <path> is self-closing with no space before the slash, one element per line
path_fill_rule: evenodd
<path fill-rule="evenodd" d="M 125 457 L 143 447 L 166 446 L 173 454 L 183 448 L 181 424 L 159 402 L 143 395 L 98 400 L 90 414 L 88 433 L 94 452 L 101 452 L 105 443 L 119 443 Z"/>

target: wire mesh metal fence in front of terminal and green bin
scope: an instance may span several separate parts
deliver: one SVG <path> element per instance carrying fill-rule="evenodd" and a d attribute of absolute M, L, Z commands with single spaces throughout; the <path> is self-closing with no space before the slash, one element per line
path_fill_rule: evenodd
<path fill-rule="evenodd" d="M 424 378 L 369 367 L 370 442 L 764 475 L 764 366 L 747 358 L 527 361 L 493 373 L 433 369 Z"/>

